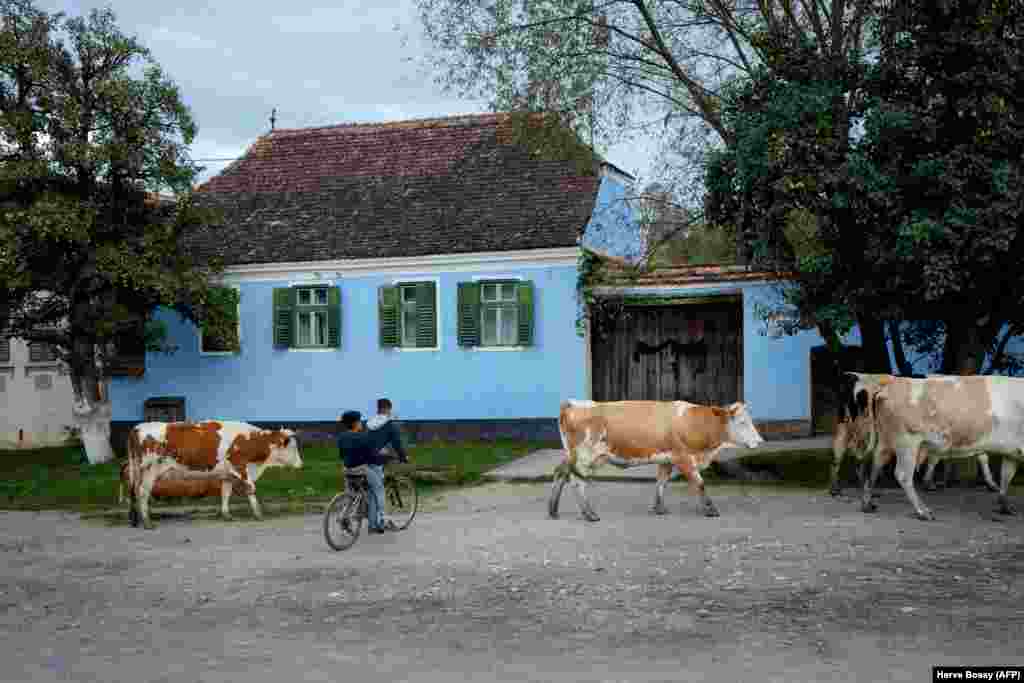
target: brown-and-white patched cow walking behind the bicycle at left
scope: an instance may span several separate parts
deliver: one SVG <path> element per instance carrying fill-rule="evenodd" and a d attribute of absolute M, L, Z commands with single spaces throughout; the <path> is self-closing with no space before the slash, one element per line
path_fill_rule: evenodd
<path fill-rule="evenodd" d="M 253 515 L 262 517 L 256 480 L 267 467 L 302 467 L 298 439 L 290 429 L 260 429 L 245 422 L 144 422 L 128 435 L 128 490 L 132 525 L 150 520 L 150 497 L 164 490 L 209 490 L 170 481 L 205 480 L 220 486 L 220 514 L 230 519 L 231 489 L 242 485 Z M 158 486 L 158 481 L 161 484 Z M 175 488 L 175 486 L 178 486 Z M 137 515 L 137 516 L 136 516 Z"/>

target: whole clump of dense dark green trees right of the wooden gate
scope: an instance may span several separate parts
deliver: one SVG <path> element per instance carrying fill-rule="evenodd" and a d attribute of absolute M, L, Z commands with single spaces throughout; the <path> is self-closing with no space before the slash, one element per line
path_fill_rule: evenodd
<path fill-rule="evenodd" d="M 856 321 L 870 369 L 889 372 L 888 323 L 909 371 L 910 323 L 943 334 L 942 372 L 973 374 L 1020 329 L 1021 9 L 920 1 L 879 18 L 873 63 L 830 72 L 769 32 L 772 70 L 726 91 L 736 143 L 711 159 L 709 204 L 719 220 L 753 209 L 762 256 L 799 274 L 788 303 L 826 331 Z M 859 139 L 835 125 L 840 96 Z"/>

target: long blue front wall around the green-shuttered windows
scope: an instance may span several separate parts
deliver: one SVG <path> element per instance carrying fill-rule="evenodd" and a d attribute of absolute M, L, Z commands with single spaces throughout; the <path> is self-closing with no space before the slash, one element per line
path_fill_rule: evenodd
<path fill-rule="evenodd" d="M 377 291 L 404 273 L 344 278 L 341 348 L 276 349 L 271 292 L 287 282 L 241 285 L 242 351 L 199 353 L 195 328 L 160 311 L 171 355 L 146 355 L 145 375 L 116 378 L 114 420 L 141 420 L 152 396 L 183 395 L 189 419 L 336 420 L 342 411 L 372 414 L 387 396 L 407 420 L 552 418 L 561 400 L 585 395 L 585 341 L 575 334 L 575 266 L 517 267 L 439 278 L 440 350 L 384 350 L 378 341 Z M 415 279 L 412 273 L 408 275 Z M 467 350 L 457 344 L 457 285 L 476 278 L 522 276 L 535 286 L 535 345 L 525 350 Z"/>

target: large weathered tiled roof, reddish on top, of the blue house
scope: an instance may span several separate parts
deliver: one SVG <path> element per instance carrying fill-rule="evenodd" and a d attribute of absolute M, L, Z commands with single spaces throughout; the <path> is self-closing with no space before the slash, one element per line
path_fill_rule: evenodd
<path fill-rule="evenodd" d="M 600 178 L 531 156 L 508 115 L 275 130 L 203 184 L 227 264 L 574 247 Z"/>

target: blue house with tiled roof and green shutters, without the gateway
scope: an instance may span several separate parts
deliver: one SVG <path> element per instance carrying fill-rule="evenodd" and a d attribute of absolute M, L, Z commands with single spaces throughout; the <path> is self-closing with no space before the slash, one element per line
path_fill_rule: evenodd
<path fill-rule="evenodd" d="M 588 394 L 581 241 L 640 253 L 631 182 L 538 156 L 507 115 L 263 135 L 199 188 L 225 220 L 186 241 L 223 259 L 237 339 L 158 311 L 177 351 L 113 379 L 113 426 L 318 431 L 387 396 L 414 437 L 557 438 L 559 403 Z"/>

